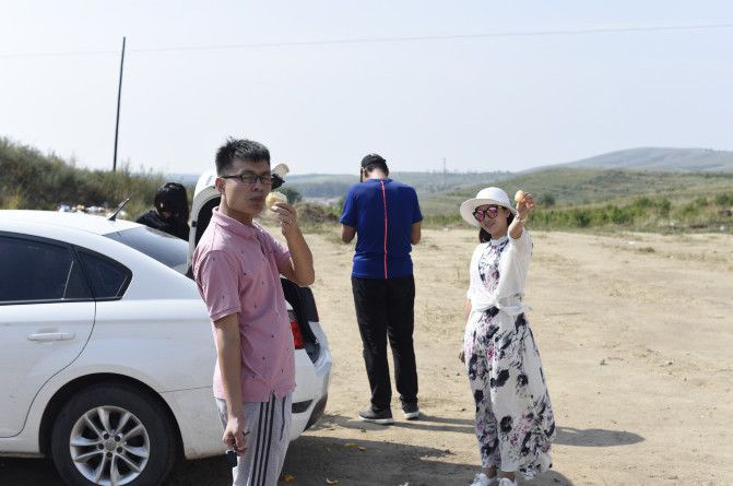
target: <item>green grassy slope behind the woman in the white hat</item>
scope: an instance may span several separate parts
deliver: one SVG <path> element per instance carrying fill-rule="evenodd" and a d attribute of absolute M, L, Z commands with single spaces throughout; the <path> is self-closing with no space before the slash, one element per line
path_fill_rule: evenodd
<path fill-rule="evenodd" d="M 537 228 L 733 230 L 733 174 L 551 168 L 498 183 L 535 195 Z M 484 185 L 421 200 L 428 225 L 461 224 L 458 206 Z"/>

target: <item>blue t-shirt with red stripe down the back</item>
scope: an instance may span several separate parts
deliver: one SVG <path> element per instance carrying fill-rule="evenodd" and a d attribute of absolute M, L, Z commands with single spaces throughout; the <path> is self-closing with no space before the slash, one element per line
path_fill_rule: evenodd
<path fill-rule="evenodd" d="M 412 275 L 413 223 L 423 221 L 415 190 L 392 179 L 367 179 L 348 188 L 341 224 L 356 228 L 352 275 Z"/>

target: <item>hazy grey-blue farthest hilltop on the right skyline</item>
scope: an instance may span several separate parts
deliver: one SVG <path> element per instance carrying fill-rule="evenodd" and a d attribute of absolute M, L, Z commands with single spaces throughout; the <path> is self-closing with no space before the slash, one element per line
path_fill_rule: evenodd
<path fill-rule="evenodd" d="M 710 149 L 629 149 L 553 167 L 655 170 L 664 173 L 733 173 L 733 152 Z M 540 167 L 540 169 L 548 168 Z"/>

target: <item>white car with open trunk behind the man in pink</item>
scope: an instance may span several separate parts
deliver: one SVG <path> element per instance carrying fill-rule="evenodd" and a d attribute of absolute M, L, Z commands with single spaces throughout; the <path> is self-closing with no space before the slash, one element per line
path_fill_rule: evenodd
<path fill-rule="evenodd" d="M 135 486 L 224 452 L 188 258 L 185 241 L 137 223 L 0 211 L 0 455 L 50 455 L 69 485 Z M 310 289 L 283 287 L 294 439 L 323 413 L 331 355 Z"/>

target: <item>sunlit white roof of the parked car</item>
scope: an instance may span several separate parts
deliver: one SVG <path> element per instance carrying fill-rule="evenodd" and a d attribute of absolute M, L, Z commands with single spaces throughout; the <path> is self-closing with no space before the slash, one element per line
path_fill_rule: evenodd
<path fill-rule="evenodd" d="M 107 235 L 140 226 L 125 220 L 108 221 L 103 216 L 86 213 L 63 213 L 57 211 L 0 210 L 0 220 L 37 223 L 64 228 L 80 229 L 95 235 Z"/>

